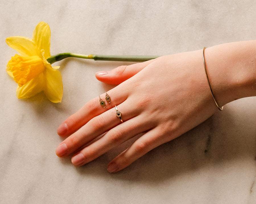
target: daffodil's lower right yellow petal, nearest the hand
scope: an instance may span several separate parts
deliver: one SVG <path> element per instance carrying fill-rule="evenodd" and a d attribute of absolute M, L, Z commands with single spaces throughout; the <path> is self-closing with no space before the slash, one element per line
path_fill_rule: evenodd
<path fill-rule="evenodd" d="M 61 102 L 63 95 L 63 85 L 61 73 L 57 69 L 46 68 L 44 94 L 53 103 Z"/>

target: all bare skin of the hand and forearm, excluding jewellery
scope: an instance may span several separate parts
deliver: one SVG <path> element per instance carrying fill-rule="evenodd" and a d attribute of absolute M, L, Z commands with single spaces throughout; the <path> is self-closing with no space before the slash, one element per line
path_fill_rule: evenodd
<path fill-rule="evenodd" d="M 244 41 L 205 49 L 207 72 L 219 106 L 256 96 L 255 48 L 256 41 Z M 57 129 L 60 136 L 68 137 L 55 152 L 59 157 L 73 155 L 75 166 L 145 133 L 108 164 L 109 172 L 120 171 L 218 111 L 205 75 L 202 50 L 120 66 L 96 73 L 96 78 L 117 85 L 108 91 L 113 108 L 108 103 L 109 110 L 102 108 L 96 97 Z M 105 94 L 100 97 L 105 99 Z M 115 105 L 124 123 L 116 117 Z"/>

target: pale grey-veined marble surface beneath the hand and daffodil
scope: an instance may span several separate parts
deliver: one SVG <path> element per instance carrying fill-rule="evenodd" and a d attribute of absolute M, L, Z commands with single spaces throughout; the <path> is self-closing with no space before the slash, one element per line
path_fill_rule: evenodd
<path fill-rule="evenodd" d="M 55 155 L 58 125 L 113 86 L 94 73 L 121 62 L 66 59 L 63 101 L 43 94 L 16 98 L 6 73 L 16 54 L 9 36 L 51 28 L 51 54 L 165 55 L 255 39 L 256 2 L 235 1 L 1 1 L 0 203 L 256 203 L 256 98 L 223 112 L 110 174 L 107 163 L 129 142 L 74 167 Z"/>

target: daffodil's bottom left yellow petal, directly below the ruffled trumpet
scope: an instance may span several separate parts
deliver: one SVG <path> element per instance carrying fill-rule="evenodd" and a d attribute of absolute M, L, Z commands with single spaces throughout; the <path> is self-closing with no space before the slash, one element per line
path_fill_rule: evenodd
<path fill-rule="evenodd" d="M 22 87 L 17 88 L 17 98 L 30 98 L 44 89 L 44 74 L 37 75 Z"/>

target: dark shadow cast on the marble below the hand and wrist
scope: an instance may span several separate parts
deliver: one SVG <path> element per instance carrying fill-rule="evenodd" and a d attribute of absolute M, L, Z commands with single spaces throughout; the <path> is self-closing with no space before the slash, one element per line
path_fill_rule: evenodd
<path fill-rule="evenodd" d="M 192 171 L 207 171 L 215 165 L 236 159 L 254 159 L 256 164 L 255 128 L 249 128 L 254 124 L 253 121 L 247 120 L 248 115 L 238 118 L 232 106 L 225 109 L 223 113 L 214 114 L 179 138 L 148 152 L 118 173 L 107 173 L 107 163 L 129 146 L 131 141 L 76 168 L 76 171 L 81 176 L 110 176 L 117 180 L 157 184 Z"/>

